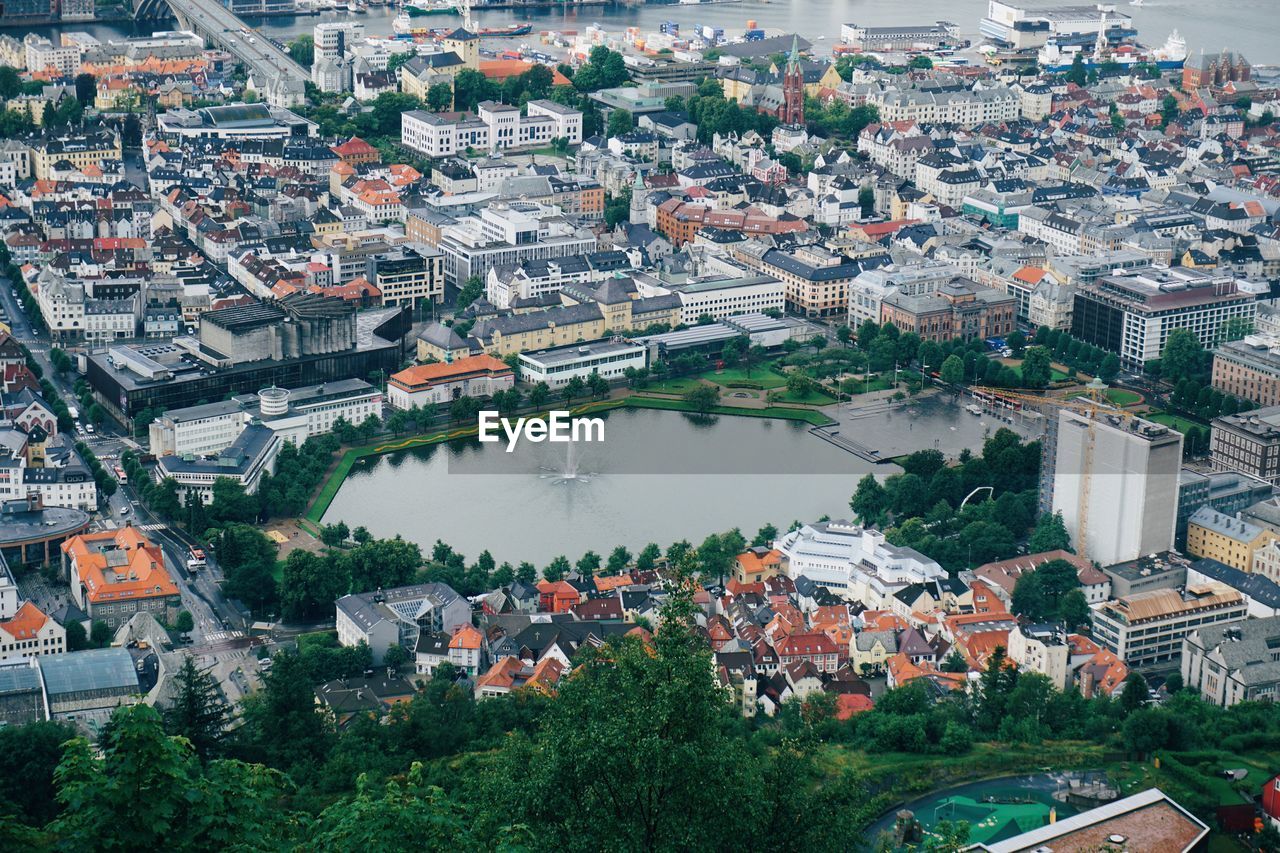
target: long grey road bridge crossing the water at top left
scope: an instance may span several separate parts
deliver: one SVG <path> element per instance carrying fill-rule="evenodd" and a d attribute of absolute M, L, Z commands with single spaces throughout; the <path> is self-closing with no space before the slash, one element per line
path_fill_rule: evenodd
<path fill-rule="evenodd" d="M 276 81 L 285 83 L 297 92 L 294 102 L 301 102 L 303 85 L 311 79 L 307 69 L 293 61 L 285 50 L 250 29 L 218 0 L 137 0 L 133 17 L 138 20 L 177 18 L 179 28 L 202 36 L 241 60 L 260 87 Z"/>

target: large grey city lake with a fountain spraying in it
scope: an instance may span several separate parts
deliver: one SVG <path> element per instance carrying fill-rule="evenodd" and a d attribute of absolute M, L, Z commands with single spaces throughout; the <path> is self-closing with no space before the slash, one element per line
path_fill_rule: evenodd
<path fill-rule="evenodd" d="M 603 444 L 566 453 L 466 441 L 374 457 L 352 469 L 324 520 L 544 566 L 618 544 L 636 552 L 735 526 L 751 538 L 767 523 L 847 517 L 864 474 L 900 470 L 833 447 L 808 424 L 652 410 L 611 412 Z M 577 479 L 556 484 L 564 473 Z"/>

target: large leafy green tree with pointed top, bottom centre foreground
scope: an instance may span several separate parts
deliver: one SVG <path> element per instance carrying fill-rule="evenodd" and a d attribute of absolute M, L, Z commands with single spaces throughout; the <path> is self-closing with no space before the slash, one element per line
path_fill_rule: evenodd
<path fill-rule="evenodd" d="M 692 610 L 677 590 L 652 647 L 625 637 L 582 649 L 538 730 L 503 749 L 485 811 L 527 826 L 535 849 L 584 839 L 595 849 L 653 850 L 712 838 L 753 762 L 728 734 Z"/>

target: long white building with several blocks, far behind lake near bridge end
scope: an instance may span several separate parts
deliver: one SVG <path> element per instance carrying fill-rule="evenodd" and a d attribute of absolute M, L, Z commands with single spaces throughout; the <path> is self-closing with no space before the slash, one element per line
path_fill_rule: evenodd
<path fill-rule="evenodd" d="M 425 110 L 401 117 L 406 147 L 431 158 L 447 158 L 474 149 L 503 151 L 550 145 L 552 140 L 582 141 L 582 114 L 554 101 L 529 101 L 520 108 L 495 101 L 480 104 L 475 118 L 454 120 Z"/>

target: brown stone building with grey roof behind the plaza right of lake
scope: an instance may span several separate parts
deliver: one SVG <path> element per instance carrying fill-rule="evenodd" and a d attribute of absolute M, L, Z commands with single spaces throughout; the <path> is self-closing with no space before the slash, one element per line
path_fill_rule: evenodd
<path fill-rule="evenodd" d="M 1018 321 L 1018 298 L 966 278 L 952 278 L 927 296 L 884 295 L 881 323 L 892 323 L 923 341 L 1004 337 Z"/>

